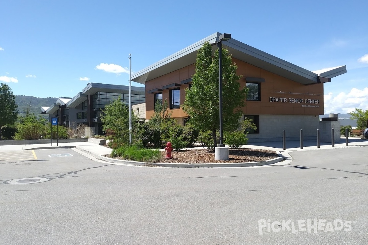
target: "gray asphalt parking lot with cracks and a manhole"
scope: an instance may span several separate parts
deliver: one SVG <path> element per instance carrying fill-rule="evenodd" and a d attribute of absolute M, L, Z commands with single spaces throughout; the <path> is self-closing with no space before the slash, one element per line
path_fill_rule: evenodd
<path fill-rule="evenodd" d="M 112 165 L 74 149 L 34 152 L 37 159 L 0 160 L 0 244 L 368 243 L 367 147 L 221 169 Z M 321 229 L 298 226 L 308 219 Z M 339 220 L 347 224 L 341 230 Z"/>

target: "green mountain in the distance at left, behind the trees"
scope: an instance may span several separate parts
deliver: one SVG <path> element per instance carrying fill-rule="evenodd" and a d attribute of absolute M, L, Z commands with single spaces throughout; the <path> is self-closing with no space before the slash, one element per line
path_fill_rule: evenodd
<path fill-rule="evenodd" d="M 24 111 L 27 109 L 27 106 L 31 104 L 31 114 L 40 115 L 42 112 L 41 107 L 54 104 L 57 98 L 37 98 L 33 96 L 24 96 L 24 95 L 16 95 L 15 103 L 18 105 L 18 115 L 24 115 Z"/>

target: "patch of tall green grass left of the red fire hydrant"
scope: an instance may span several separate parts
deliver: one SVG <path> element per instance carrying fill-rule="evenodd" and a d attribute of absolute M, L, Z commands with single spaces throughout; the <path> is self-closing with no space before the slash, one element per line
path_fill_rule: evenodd
<path fill-rule="evenodd" d="M 121 146 L 113 149 L 112 157 L 120 156 L 123 159 L 137 162 L 152 162 L 160 159 L 161 154 L 158 149 L 141 149 L 137 146 Z"/>

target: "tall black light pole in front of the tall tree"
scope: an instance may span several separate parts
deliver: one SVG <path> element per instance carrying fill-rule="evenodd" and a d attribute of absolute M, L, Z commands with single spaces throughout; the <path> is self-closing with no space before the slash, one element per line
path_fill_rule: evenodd
<path fill-rule="evenodd" d="M 222 41 L 231 39 L 231 34 L 224 33 L 219 36 L 217 47 L 219 48 L 219 109 L 220 109 L 220 144 L 219 147 L 225 147 L 223 144 L 223 121 L 222 121 Z"/>

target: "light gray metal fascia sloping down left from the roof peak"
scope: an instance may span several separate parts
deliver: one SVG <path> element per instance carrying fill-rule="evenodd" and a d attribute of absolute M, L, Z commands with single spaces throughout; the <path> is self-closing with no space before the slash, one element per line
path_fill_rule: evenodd
<path fill-rule="evenodd" d="M 214 42 L 217 42 L 218 40 L 218 36 L 221 35 L 221 33 L 219 32 L 215 32 L 213 33 L 212 35 L 208 36 L 208 37 L 205 37 L 204 39 L 202 40 L 199 40 L 198 42 L 172 54 L 172 55 L 169 55 L 168 57 L 142 69 L 141 71 L 138 71 L 136 73 L 134 73 L 134 75 L 132 75 L 132 81 L 133 82 L 137 82 L 137 83 L 142 83 L 142 84 L 145 84 L 145 79 L 147 78 L 148 74 L 150 71 L 154 70 L 154 69 L 157 69 L 159 68 L 160 66 L 163 66 L 163 65 L 166 65 L 168 63 L 170 63 L 171 61 L 173 60 L 177 60 L 178 58 L 181 58 L 189 53 L 192 53 L 192 52 L 195 52 L 197 51 L 199 48 L 202 47 L 202 45 L 205 43 L 205 42 L 210 42 L 210 43 L 214 43 Z M 139 79 L 140 76 L 145 76 L 145 78 L 143 79 Z"/>

